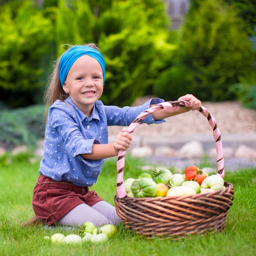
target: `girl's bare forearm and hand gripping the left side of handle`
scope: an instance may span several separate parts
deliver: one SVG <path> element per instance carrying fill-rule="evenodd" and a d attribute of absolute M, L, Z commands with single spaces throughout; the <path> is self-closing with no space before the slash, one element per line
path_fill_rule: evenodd
<path fill-rule="evenodd" d="M 92 153 L 81 154 L 84 159 L 98 160 L 107 157 L 114 157 L 118 154 L 118 150 L 127 150 L 129 148 L 132 137 L 130 133 L 123 128 L 121 132 L 115 137 L 114 143 L 110 144 L 93 144 Z"/>

